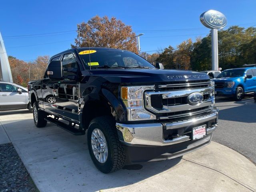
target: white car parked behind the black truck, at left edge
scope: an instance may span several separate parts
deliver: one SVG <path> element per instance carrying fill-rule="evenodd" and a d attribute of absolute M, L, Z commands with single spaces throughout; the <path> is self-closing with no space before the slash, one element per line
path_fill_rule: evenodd
<path fill-rule="evenodd" d="M 28 109 L 28 89 L 15 83 L 0 81 L 0 111 Z"/>

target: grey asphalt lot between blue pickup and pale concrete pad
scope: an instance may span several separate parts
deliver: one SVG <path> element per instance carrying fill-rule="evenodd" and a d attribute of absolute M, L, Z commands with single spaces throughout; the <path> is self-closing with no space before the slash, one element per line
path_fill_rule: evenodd
<path fill-rule="evenodd" d="M 219 126 L 213 141 L 228 146 L 256 164 L 256 102 L 252 97 L 242 101 L 217 97 Z"/>

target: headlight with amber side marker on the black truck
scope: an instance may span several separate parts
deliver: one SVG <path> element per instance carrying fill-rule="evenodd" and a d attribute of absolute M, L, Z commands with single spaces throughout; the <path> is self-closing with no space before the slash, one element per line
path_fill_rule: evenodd
<path fill-rule="evenodd" d="M 128 121 L 156 119 L 154 114 L 145 110 L 143 102 L 144 91 L 152 89 L 154 89 L 154 86 L 121 87 L 121 98 L 127 108 Z"/>

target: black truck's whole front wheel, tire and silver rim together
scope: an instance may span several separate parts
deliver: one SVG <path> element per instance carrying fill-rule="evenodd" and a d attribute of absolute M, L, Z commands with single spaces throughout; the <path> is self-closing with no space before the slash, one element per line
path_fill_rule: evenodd
<path fill-rule="evenodd" d="M 124 166 L 124 148 L 118 139 L 112 117 L 94 118 L 88 128 L 87 142 L 92 161 L 101 172 L 114 172 Z"/>

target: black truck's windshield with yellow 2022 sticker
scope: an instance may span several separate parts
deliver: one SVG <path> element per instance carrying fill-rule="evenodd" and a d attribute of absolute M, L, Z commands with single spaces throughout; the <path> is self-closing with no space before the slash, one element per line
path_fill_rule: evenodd
<path fill-rule="evenodd" d="M 150 62 L 125 50 L 90 50 L 78 51 L 86 69 L 98 68 L 153 68 Z M 90 56 L 89 56 L 90 55 Z"/>

